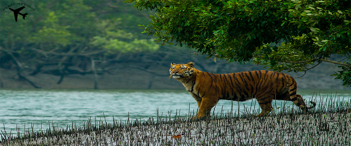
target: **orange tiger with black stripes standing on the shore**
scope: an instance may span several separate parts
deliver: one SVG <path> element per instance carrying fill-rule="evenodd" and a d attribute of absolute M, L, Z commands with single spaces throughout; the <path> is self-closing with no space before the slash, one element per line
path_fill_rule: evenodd
<path fill-rule="evenodd" d="M 197 101 L 199 109 L 193 118 L 210 117 L 212 107 L 219 100 L 243 102 L 256 98 L 261 112 L 254 116 L 271 112 L 273 99 L 292 101 L 303 112 L 316 106 L 312 101 L 312 106 L 306 106 L 302 96 L 296 94 L 297 84 L 290 75 L 267 70 L 212 74 L 195 69 L 194 64 L 171 62 L 169 76 L 180 81 Z"/>

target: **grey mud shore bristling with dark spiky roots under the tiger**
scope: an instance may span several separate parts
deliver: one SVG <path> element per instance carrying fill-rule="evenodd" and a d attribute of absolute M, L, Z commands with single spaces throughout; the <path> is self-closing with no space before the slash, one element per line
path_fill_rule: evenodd
<path fill-rule="evenodd" d="M 326 97 L 307 113 L 296 106 L 274 108 L 264 117 L 252 116 L 252 111 L 245 110 L 190 120 L 194 113 L 179 116 L 176 111 L 175 118 L 170 112 L 168 116 L 157 114 L 155 119 L 125 122 L 89 119 L 80 127 L 72 123 L 59 128 L 49 123 L 49 129 L 38 132 L 31 125 L 25 133 L 16 128 L 16 135 L 7 134 L 4 128 L 0 145 L 351 145 L 350 101 Z"/>

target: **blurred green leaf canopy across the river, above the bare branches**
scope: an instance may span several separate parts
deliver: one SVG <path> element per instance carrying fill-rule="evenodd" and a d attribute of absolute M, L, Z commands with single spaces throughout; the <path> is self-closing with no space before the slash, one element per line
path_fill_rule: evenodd
<path fill-rule="evenodd" d="M 1 6 L 15 2 L 1 1 Z M 146 35 L 140 35 L 140 32 L 128 32 L 130 21 L 134 17 L 133 13 L 120 13 L 116 8 L 109 7 L 119 5 L 120 2 L 25 1 L 24 3 L 35 8 L 35 11 L 29 8 L 22 10 L 28 13 L 25 20 L 19 15 L 18 22 L 15 22 L 13 12 L 8 8 L 1 14 L 1 21 L 6 22 L 1 25 L 2 49 L 16 51 L 24 47 L 27 50 L 36 48 L 60 53 L 73 46 L 82 48 L 90 46 L 91 50 L 105 50 L 106 53 L 133 53 L 159 48 L 155 42 L 150 41 L 150 38 L 145 39 Z M 19 6 L 12 8 L 17 7 Z M 148 18 L 138 19 L 138 22 L 143 23 L 148 20 Z M 98 45 L 101 48 L 94 45 L 99 42 L 99 37 L 107 40 L 103 45 Z"/>

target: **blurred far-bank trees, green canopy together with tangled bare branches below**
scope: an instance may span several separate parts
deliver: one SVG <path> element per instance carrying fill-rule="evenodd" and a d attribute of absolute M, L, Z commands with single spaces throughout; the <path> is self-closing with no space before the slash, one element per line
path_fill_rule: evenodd
<path fill-rule="evenodd" d="M 1 15 L 1 68 L 60 75 L 108 72 L 111 64 L 135 61 L 159 45 L 141 34 L 152 12 L 120 1 L 22 1 L 34 8 L 25 20 Z M 17 1 L 1 1 L 5 7 Z M 21 6 L 12 6 L 16 9 Z"/>

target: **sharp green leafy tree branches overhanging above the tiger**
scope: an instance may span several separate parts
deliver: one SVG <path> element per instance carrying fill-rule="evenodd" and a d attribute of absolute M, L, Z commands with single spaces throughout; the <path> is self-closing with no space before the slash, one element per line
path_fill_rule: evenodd
<path fill-rule="evenodd" d="M 163 45 L 175 41 L 208 57 L 251 60 L 275 71 L 330 62 L 342 69 L 334 76 L 351 85 L 350 0 L 127 1 L 155 11 L 144 32 Z"/>

